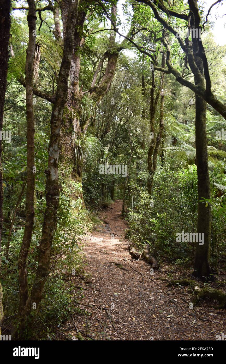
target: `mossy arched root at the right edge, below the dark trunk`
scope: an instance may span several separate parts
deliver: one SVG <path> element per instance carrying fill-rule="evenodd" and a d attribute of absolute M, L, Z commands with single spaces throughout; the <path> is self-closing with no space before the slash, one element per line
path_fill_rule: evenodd
<path fill-rule="evenodd" d="M 196 289 L 194 291 L 193 304 L 197 304 L 202 298 L 205 297 L 213 298 L 219 302 L 218 306 L 213 306 L 214 308 L 226 308 L 226 293 L 211 287 Z"/>

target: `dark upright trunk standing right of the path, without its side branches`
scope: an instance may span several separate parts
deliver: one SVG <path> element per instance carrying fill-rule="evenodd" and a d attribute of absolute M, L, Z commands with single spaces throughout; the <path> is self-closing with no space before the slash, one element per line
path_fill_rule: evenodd
<path fill-rule="evenodd" d="M 195 0 L 197 7 L 197 1 Z M 195 11 L 195 9 L 194 9 Z M 195 18 L 196 17 L 196 18 Z M 199 19 L 199 17 L 198 17 Z M 191 28 L 199 26 L 197 14 L 193 13 L 191 16 Z M 187 40 L 188 49 L 190 49 L 190 42 Z M 194 61 L 196 68 L 194 68 L 194 81 L 195 85 L 204 84 L 204 63 L 200 56 L 201 49 L 200 43 L 196 38 L 192 38 L 192 51 L 194 54 Z M 201 44 L 202 47 L 202 44 Z M 209 87 L 210 84 L 209 84 Z M 196 254 L 194 261 L 193 275 L 201 278 L 202 280 L 214 280 L 210 276 L 212 270 L 210 268 L 210 242 L 211 242 L 211 207 L 209 203 L 200 202 L 202 198 L 210 199 L 210 178 L 208 169 L 208 154 L 207 154 L 207 137 L 206 137 L 206 102 L 203 98 L 196 94 L 196 164 L 198 176 L 198 221 L 197 232 L 204 233 L 204 244 L 200 245 L 196 242 Z"/>

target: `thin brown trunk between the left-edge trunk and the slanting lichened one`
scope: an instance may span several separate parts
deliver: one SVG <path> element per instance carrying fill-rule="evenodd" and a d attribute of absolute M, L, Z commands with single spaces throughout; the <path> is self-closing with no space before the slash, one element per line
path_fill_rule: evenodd
<path fill-rule="evenodd" d="M 27 119 L 27 186 L 26 186 L 26 222 L 24 236 L 18 259 L 20 300 L 19 314 L 22 314 L 28 300 L 28 273 L 27 259 L 32 239 L 34 225 L 34 110 L 33 110 L 33 83 L 34 83 L 34 50 L 36 44 L 36 7 L 34 0 L 28 0 L 28 28 L 29 40 L 25 65 L 26 87 L 26 119 Z"/>

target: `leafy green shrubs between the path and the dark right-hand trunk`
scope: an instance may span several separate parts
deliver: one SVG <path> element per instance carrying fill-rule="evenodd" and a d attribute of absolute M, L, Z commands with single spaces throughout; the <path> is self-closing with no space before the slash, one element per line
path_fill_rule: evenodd
<path fill-rule="evenodd" d="M 153 201 L 145 189 L 131 182 L 128 223 L 140 246 L 151 245 L 153 255 L 167 260 L 192 256 L 193 246 L 176 242 L 176 233 L 193 232 L 197 220 L 196 166 L 172 171 L 165 164 L 156 171 Z"/>

